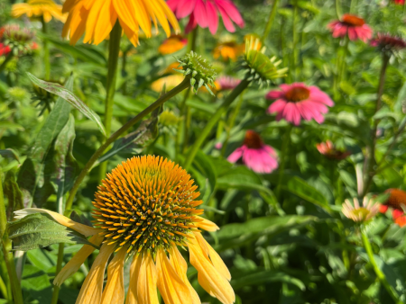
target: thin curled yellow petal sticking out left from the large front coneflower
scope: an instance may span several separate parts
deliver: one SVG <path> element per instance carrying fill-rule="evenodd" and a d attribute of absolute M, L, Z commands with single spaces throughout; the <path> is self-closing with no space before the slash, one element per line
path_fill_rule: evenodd
<path fill-rule="evenodd" d="M 85 237 L 90 237 L 90 236 L 94 236 L 99 232 L 103 232 L 102 229 L 97 229 L 97 228 L 91 228 L 87 225 L 83 225 L 80 223 L 77 223 L 76 221 L 69 219 L 57 212 L 53 212 L 50 210 L 45 210 L 45 209 L 39 209 L 39 208 L 25 208 L 22 210 L 18 210 L 18 211 L 14 211 L 15 214 L 15 219 L 23 219 L 23 217 L 29 215 L 29 214 L 33 214 L 33 213 L 47 213 L 49 215 L 51 215 L 51 217 L 53 219 L 55 219 L 57 222 L 60 223 L 60 225 L 66 226 L 68 228 L 71 228 L 75 231 L 78 231 L 79 233 L 81 233 L 82 235 L 84 235 Z"/>

